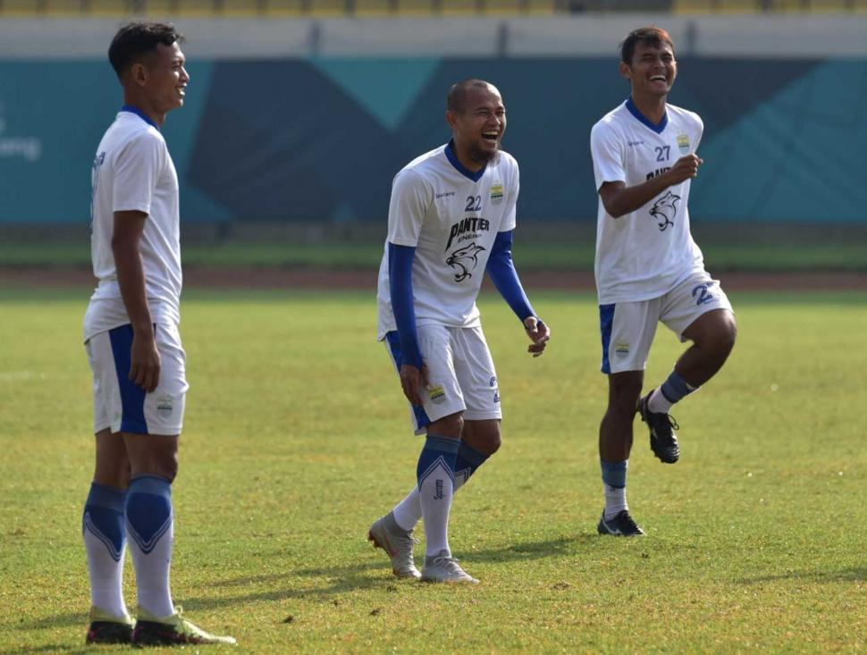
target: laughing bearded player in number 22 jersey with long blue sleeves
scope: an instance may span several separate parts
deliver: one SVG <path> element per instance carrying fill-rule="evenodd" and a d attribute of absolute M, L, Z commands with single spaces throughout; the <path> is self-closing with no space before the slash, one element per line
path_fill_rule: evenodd
<path fill-rule="evenodd" d="M 497 88 L 465 80 L 449 91 L 452 139 L 407 164 L 391 188 L 388 238 L 378 284 L 384 340 L 426 432 L 417 485 L 367 538 L 391 557 L 394 575 L 477 583 L 451 557 L 454 491 L 500 448 L 500 391 L 476 307 L 487 271 L 523 323 L 529 352 L 550 338 L 512 264 L 518 163 L 501 151 L 506 108 Z M 425 565 L 413 559 L 413 529 L 425 520 Z"/>

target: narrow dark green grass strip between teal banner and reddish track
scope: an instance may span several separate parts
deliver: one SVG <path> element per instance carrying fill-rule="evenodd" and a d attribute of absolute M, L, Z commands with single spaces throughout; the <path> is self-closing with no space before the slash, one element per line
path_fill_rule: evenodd
<path fill-rule="evenodd" d="M 521 270 L 591 271 L 593 241 L 560 242 L 521 240 L 515 259 Z M 867 271 L 863 242 L 731 244 L 701 243 L 705 261 L 713 271 Z M 90 265 L 87 239 L 67 243 L 0 242 L 0 266 Z M 383 256 L 380 242 L 228 243 L 184 246 L 184 265 L 280 266 L 375 269 Z"/>

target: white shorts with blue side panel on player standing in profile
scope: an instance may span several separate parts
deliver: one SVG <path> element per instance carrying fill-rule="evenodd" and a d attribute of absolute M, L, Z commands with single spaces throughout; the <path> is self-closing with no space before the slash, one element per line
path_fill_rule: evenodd
<path fill-rule="evenodd" d="M 175 435 L 183 425 L 184 399 L 189 389 L 175 325 L 156 324 L 160 374 L 156 390 L 146 393 L 129 379 L 132 326 L 99 332 L 86 343 L 93 371 L 94 432 Z"/>

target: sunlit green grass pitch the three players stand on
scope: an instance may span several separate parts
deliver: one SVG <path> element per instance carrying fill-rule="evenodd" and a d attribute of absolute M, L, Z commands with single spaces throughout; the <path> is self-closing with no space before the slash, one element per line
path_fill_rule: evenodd
<path fill-rule="evenodd" d="M 84 651 L 87 296 L 0 290 L 4 653 Z M 365 541 L 420 447 L 372 294 L 190 291 L 175 599 L 238 637 L 231 652 L 863 652 L 867 294 L 732 300 L 737 347 L 677 407 L 678 465 L 636 426 L 629 500 L 648 536 L 627 541 L 595 533 L 593 297 L 535 296 L 553 330 L 539 359 L 484 297 L 504 445 L 452 512 L 483 581 L 469 589 L 396 580 Z M 660 329 L 648 382 L 681 348 Z"/>

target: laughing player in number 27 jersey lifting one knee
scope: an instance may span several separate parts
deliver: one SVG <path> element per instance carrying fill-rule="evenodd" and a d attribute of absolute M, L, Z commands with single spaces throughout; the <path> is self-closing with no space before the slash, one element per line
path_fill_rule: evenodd
<path fill-rule="evenodd" d="M 672 405 L 720 370 L 735 343 L 735 317 L 720 282 L 705 272 L 689 231 L 690 181 L 703 123 L 669 105 L 678 73 L 674 44 L 657 28 L 636 29 L 621 45 L 620 74 L 632 95 L 593 126 L 591 150 L 599 217 L 596 289 L 608 409 L 599 429 L 605 509 L 602 534 L 644 534 L 629 515 L 627 464 L 636 411 L 651 449 L 673 464 L 680 450 Z M 658 322 L 692 341 L 668 379 L 640 398 Z M 639 399 L 640 398 L 640 399 Z"/>

